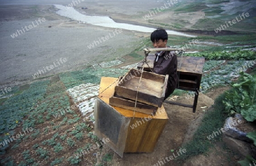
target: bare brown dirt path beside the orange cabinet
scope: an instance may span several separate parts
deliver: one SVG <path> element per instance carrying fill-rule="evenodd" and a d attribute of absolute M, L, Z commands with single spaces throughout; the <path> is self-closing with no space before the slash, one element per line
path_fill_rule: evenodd
<path fill-rule="evenodd" d="M 220 93 L 227 90 L 227 87 L 221 87 L 214 90 L 214 95 L 211 95 L 213 91 L 209 92 L 209 96 L 215 99 Z M 185 141 L 189 141 L 192 138 L 192 133 L 195 131 L 197 126 L 200 124 L 201 117 L 204 115 L 203 109 L 200 107 L 207 106 L 208 108 L 214 103 L 214 100 L 207 95 L 200 94 L 197 104 L 196 113 L 192 113 L 191 108 L 179 107 L 177 105 L 171 105 L 164 103 L 164 108 L 169 117 L 169 121 L 163 130 L 162 135 L 156 144 L 155 150 L 152 153 L 138 153 L 138 154 L 124 154 L 121 159 L 117 154 L 114 153 L 114 159 L 112 165 L 154 165 L 157 163 L 162 163 L 166 157 L 172 155 L 171 150 L 179 150 L 181 145 Z M 182 101 L 186 104 L 193 104 L 193 98 L 186 99 L 185 97 L 180 97 L 179 102 Z M 207 110 L 205 110 L 207 111 Z M 105 151 L 111 152 L 109 148 L 105 148 Z M 204 156 L 204 155 L 202 155 Z M 229 165 L 229 161 L 225 156 L 216 155 L 212 153 L 210 156 L 206 157 L 195 157 L 192 161 L 188 161 L 184 165 L 197 165 L 197 164 L 209 164 L 210 165 Z M 165 165 L 179 165 L 174 160 L 167 161 Z M 203 164 L 204 165 L 204 164 Z"/>

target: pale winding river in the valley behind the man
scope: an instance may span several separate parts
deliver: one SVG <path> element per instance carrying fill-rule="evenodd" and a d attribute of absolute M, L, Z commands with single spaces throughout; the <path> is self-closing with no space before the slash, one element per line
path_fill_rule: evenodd
<path fill-rule="evenodd" d="M 101 27 L 120 28 L 120 29 L 127 29 L 130 31 L 139 31 L 139 32 L 148 32 L 148 33 L 151 33 L 155 30 L 155 28 L 144 27 L 140 25 L 117 23 L 117 22 L 114 22 L 113 19 L 109 18 L 109 16 L 84 15 L 84 14 L 81 14 L 79 11 L 75 10 L 75 8 L 73 7 L 67 7 L 63 5 L 55 5 L 55 7 L 59 8 L 59 10 L 56 11 L 57 14 L 83 22 L 83 23 L 88 23 L 88 24 L 97 25 Z M 168 33 L 168 35 L 196 37 L 195 35 L 189 35 L 187 33 L 176 32 L 176 31 L 167 30 L 166 32 Z"/>

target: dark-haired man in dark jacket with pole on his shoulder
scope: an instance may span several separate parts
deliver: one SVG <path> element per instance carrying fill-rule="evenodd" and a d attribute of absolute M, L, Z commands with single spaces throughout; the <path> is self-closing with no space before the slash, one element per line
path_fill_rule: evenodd
<path fill-rule="evenodd" d="M 150 40 L 154 48 L 167 48 L 168 35 L 165 29 L 156 29 L 151 33 Z M 169 75 L 166 95 L 164 100 L 174 92 L 178 78 L 177 78 L 177 56 L 174 51 L 161 51 L 155 53 L 154 73 L 161 75 Z"/>

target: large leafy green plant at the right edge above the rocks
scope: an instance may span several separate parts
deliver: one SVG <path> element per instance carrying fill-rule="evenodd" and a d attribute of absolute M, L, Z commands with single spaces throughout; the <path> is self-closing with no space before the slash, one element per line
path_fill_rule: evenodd
<path fill-rule="evenodd" d="M 233 83 L 233 89 L 226 92 L 223 103 L 229 114 L 241 113 L 250 122 L 256 120 L 256 76 L 241 72 L 238 83 Z"/>

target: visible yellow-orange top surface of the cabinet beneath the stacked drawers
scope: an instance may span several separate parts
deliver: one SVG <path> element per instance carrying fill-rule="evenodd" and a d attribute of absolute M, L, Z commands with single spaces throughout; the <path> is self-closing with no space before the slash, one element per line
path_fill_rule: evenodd
<path fill-rule="evenodd" d="M 112 78 L 112 77 L 101 78 L 98 97 L 107 104 L 109 104 L 109 98 L 114 95 L 114 88 L 117 85 L 117 81 L 118 81 L 118 78 Z M 104 92 L 101 93 L 102 91 Z M 144 118 L 148 116 L 147 114 L 140 113 L 140 112 L 135 112 L 134 114 L 132 110 L 128 110 L 128 109 L 123 109 L 119 107 L 113 107 L 113 108 L 116 109 L 119 113 L 121 113 L 125 117 Z M 164 110 L 163 105 L 162 107 L 158 108 L 158 110 L 156 110 L 156 115 L 152 117 L 152 119 L 168 119 L 167 113 Z"/>

